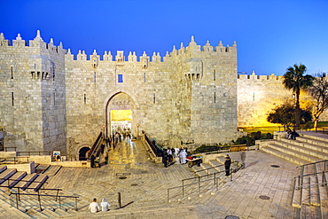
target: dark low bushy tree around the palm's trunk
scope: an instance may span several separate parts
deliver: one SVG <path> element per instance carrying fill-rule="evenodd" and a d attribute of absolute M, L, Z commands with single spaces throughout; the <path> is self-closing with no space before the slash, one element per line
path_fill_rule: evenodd
<path fill-rule="evenodd" d="M 282 124 L 285 128 L 296 124 L 295 121 L 295 109 L 290 104 L 284 104 L 277 106 L 269 113 L 267 121 L 276 124 Z M 308 110 L 300 109 L 300 124 L 306 124 L 308 121 L 312 121 L 312 114 Z"/>

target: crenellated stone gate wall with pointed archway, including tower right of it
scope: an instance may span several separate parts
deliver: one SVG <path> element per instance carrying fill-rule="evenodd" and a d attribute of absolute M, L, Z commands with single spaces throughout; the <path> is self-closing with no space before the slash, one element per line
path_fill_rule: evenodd
<path fill-rule="evenodd" d="M 209 50 L 207 50 L 209 47 Z M 90 146 L 103 130 L 113 134 L 110 112 L 132 110 L 132 130 L 168 146 L 227 142 L 237 136 L 236 46 L 220 51 L 207 43 L 174 49 L 160 62 L 145 53 L 115 57 L 96 51 L 66 54 L 66 122 L 69 153 Z M 217 60 L 220 61 L 217 61 Z M 119 75 L 122 82 L 119 82 Z M 118 98 L 120 97 L 120 98 Z M 77 107 L 78 106 L 78 107 Z M 137 127 L 137 124 L 139 127 Z"/>

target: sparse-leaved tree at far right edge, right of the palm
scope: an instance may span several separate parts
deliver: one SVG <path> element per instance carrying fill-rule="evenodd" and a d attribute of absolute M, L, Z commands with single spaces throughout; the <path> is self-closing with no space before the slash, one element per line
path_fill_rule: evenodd
<path fill-rule="evenodd" d="M 317 122 L 321 113 L 328 108 L 328 81 L 324 73 L 317 74 L 314 78 L 312 86 L 308 88 L 308 92 L 314 99 L 312 106 L 312 114 L 314 117 L 314 128 L 317 128 Z"/>

